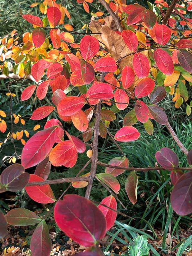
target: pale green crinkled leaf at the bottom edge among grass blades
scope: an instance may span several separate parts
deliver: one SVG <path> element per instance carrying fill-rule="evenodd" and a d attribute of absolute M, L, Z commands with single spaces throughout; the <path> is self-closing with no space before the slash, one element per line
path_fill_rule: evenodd
<path fill-rule="evenodd" d="M 129 245 L 129 255 L 130 256 L 148 256 L 149 249 L 150 247 L 147 242 L 147 236 L 140 235 L 135 237 L 134 244 Z"/>

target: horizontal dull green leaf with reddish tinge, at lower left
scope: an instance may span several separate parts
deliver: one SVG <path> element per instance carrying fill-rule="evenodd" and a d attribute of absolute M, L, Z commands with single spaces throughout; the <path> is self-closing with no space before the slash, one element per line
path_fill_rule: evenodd
<path fill-rule="evenodd" d="M 5 215 L 5 218 L 7 223 L 13 226 L 34 225 L 41 221 L 41 218 L 37 216 L 34 212 L 23 208 L 15 208 L 10 210 Z"/>

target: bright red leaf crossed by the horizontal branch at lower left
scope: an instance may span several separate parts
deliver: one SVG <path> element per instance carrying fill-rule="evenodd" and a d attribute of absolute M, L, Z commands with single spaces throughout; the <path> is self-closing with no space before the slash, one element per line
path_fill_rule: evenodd
<path fill-rule="evenodd" d="M 29 183 L 39 182 L 39 181 L 44 181 L 44 179 L 35 174 L 30 174 Z M 29 186 L 29 187 L 25 187 L 25 191 L 27 192 L 28 196 L 31 197 L 31 199 L 34 200 L 35 202 L 38 202 L 41 204 L 48 204 L 48 203 L 55 202 L 55 196 L 53 194 L 53 191 L 50 185 Z"/>

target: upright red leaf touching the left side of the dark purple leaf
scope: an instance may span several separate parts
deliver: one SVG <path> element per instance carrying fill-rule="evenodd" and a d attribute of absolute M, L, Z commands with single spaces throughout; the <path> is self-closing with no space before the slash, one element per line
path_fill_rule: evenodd
<path fill-rule="evenodd" d="M 135 115 L 141 123 L 146 123 L 149 119 L 149 109 L 141 100 L 135 102 Z"/>

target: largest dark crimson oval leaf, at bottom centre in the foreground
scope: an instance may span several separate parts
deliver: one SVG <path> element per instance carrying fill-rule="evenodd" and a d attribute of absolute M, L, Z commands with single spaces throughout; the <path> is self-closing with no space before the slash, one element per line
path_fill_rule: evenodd
<path fill-rule="evenodd" d="M 104 215 L 85 197 L 65 195 L 54 207 L 54 218 L 67 236 L 85 247 L 94 245 L 105 236 Z"/>

